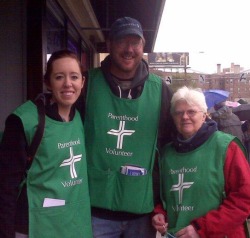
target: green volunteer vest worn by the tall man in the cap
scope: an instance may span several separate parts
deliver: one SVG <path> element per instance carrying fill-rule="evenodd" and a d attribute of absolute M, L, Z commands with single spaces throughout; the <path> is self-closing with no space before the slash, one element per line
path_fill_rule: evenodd
<path fill-rule="evenodd" d="M 84 128 L 93 207 L 138 214 L 152 211 L 161 90 L 161 80 L 151 75 L 139 98 L 119 98 L 99 69 L 90 72 Z M 120 169 L 127 164 L 141 166 L 147 174 L 124 175 Z"/>

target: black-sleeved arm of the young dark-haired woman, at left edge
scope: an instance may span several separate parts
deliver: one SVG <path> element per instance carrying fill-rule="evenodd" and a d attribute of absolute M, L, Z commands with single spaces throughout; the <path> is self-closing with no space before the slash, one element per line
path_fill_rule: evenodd
<path fill-rule="evenodd" d="M 20 119 L 6 120 L 0 148 L 0 237 L 13 238 L 18 186 L 26 168 L 26 139 Z"/>

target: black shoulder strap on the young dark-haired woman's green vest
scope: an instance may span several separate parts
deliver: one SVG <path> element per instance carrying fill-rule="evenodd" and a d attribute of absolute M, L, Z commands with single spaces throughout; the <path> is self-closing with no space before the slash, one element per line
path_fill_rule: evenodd
<path fill-rule="evenodd" d="M 45 127 L 45 102 L 43 97 L 38 97 L 35 100 L 35 104 L 37 106 L 38 111 L 38 125 L 33 137 L 33 140 L 28 148 L 28 163 L 31 165 L 33 157 L 36 154 L 37 148 L 41 143 L 44 127 Z M 30 166 L 29 166 L 30 167 Z"/>

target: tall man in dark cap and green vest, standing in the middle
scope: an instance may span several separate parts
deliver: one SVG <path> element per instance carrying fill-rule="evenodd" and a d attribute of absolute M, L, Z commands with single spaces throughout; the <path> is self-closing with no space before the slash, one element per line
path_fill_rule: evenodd
<path fill-rule="evenodd" d="M 97 238 L 156 236 L 153 170 L 157 147 L 170 141 L 172 93 L 149 73 L 144 45 L 141 24 L 120 18 L 110 29 L 109 56 L 88 73 L 84 126 Z"/>

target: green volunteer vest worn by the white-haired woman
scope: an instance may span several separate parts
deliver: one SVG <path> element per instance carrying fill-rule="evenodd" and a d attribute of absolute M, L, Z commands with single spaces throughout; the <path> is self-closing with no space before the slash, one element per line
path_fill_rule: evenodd
<path fill-rule="evenodd" d="M 224 162 L 229 143 L 237 138 L 215 132 L 203 145 L 177 153 L 171 144 L 160 160 L 162 201 L 169 232 L 175 233 L 196 217 L 217 209 L 224 196 Z"/>

